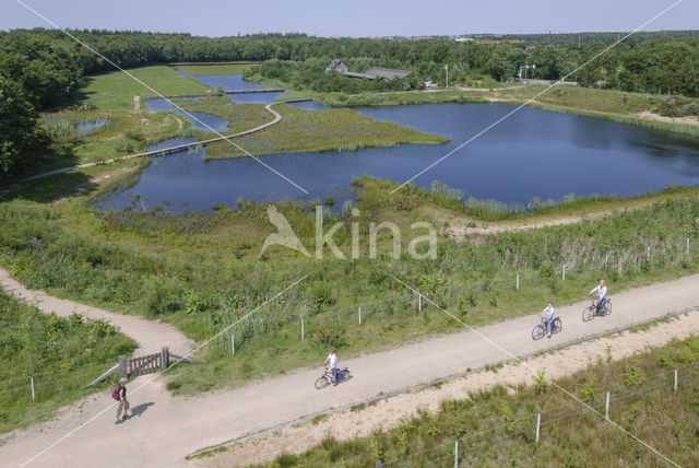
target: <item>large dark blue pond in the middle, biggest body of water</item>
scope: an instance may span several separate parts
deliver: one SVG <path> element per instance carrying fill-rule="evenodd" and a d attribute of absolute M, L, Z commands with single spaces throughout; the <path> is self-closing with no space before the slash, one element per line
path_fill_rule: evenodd
<path fill-rule="evenodd" d="M 150 204 L 208 210 L 240 197 L 324 199 L 369 174 L 403 182 L 425 169 L 510 110 L 507 104 L 424 104 L 357 110 L 381 120 L 440 133 L 447 144 L 404 144 L 358 151 L 273 154 L 260 157 L 310 195 L 253 159 L 203 161 L 187 152 L 168 155 L 143 171 L 128 190 L 105 201 L 121 208 L 134 194 Z M 699 143 L 643 127 L 569 114 L 522 108 L 471 144 L 416 177 L 429 188 L 440 180 L 466 196 L 503 202 L 535 197 L 636 195 L 671 184 L 695 185 Z"/>

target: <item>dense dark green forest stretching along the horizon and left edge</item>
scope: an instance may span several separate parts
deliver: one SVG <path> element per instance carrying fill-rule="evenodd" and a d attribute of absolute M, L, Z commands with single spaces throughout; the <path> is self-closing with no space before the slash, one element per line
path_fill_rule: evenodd
<path fill-rule="evenodd" d="M 422 80 L 443 82 L 445 65 L 452 83 L 490 77 L 512 79 L 523 63 L 535 63 L 534 78 L 557 80 L 572 72 L 618 34 L 519 36 L 518 44 L 457 43 L 448 37 L 324 38 L 305 34 L 264 34 L 242 37 L 194 37 L 189 34 L 73 31 L 78 39 L 114 63 L 131 68 L 182 61 L 265 61 L 254 73 L 294 87 L 315 91 L 410 90 Z M 584 40 L 582 37 L 584 36 Z M 509 36 L 508 36 L 509 37 Z M 516 36 L 512 36 L 516 37 Z M 503 37 L 505 38 L 505 37 Z M 353 71 L 382 66 L 413 70 L 405 80 L 351 80 L 324 73 L 333 58 Z M 659 66 L 662 63 L 662 67 Z M 74 101 L 82 77 L 114 67 L 60 31 L 0 32 L 0 177 L 8 177 L 47 153 L 37 110 L 55 109 Z M 699 39 L 691 32 L 642 33 L 569 77 L 584 85 L 648 93 L 699 95 Z"/>

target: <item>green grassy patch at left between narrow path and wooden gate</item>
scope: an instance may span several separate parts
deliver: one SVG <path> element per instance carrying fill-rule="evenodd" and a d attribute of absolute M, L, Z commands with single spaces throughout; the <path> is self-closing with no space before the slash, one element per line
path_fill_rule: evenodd
<path fill-rule="evenodd" d="M 135 349 L 106 321 L 44 315 L 1 292 L 0 325 L 0 433 L 47 420 L 91 393 L 109 391 L 116 376 L 91 388 L 86 384 Z"/>

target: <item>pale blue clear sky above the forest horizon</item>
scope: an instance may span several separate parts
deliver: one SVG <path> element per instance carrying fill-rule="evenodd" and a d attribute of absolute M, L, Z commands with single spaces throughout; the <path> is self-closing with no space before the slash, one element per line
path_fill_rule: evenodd
<path fill-rule="evenodd" d="M 675 0 L 22 0 L 62 27 L 226 36 L 317 36 L 630 31 Z M 647 31 L 699 28 L 699 1 L 683 0 Z M 0 0 L 0 28 L 46 26 Z"/>

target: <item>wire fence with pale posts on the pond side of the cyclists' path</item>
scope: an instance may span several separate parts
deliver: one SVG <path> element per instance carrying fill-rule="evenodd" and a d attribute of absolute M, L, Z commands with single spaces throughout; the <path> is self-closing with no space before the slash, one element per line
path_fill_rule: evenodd
<path fill-rule="evenodd" d="M 618 278 L 635 269 L 639 271 L 663 269 L 678 261 L 688 266 L 694 262 L 697 256 L 695 250 L 699 246 L 699 243 L 692 239 L 694 237 L 666 238 L 644 248 L 609 249 L 608 254 L 594 253 L 585 258 L 570 254 L 570 260 L 558 265 L 549 264 L 545 271 L 542 270 L 543 267 L 538 271 L 531 269 L 523 272 L 516 269 L 501 271 L 494 278 L 467 281 L 459 288 L 445 286 L 439 294 L 435 291 L 423 291 L 418 294 L 406 291 L 388 292 L 382 299 L 376 301 L 362 301 L 342 307 L 305 304 L 295 311 L 289 311 L 286 304 L 270 304 L 264 313 L 251 317 L 246 323 L 232 328 L 229 334 L 222 336 L 214 343 L 214 348 L 222 354 L 235 352 L 236 349 L 239 351 L 250 339 L 279 332 L 283 328 L 284 335 L 276 337 L 277 339 L 294 339 L 296 335 L 298 340 L 310 338 L 319 343 L 337 346 L 343 341 L 343 334 L 356 335 L 365 326 L 378 327 L 383 331 L 403 327 L 405 313 L 413 311 L 422 314 L 431 307 L 429 301 L 434 301 L 443 308 L 457 303 L 459 307 L 463 306 L 464 311 L 475 308 L 478 304 L 498 306 L 496 293 L 505 292 L 507 299 L 512 297 L 509 294 L 548 291 L 566 282 L 573 284 L 590 282 L 589 273 L 595 273 L 597 277 L 616 274 Z M 574 248 L 569 247 L 569 250 Z M 423 289 L 420 284 L 414 283 L 413 286 L 416 290 Z M 212 327 L 211 335 L 218 329 L 227 328 L 237 318 L 238 315 L 233 312 L 224 315 L 217 328 Z M 423 316 L 423 319 L 426 325 L 429 324 L 429 317 Z M 296 327 L 295 331 L 294 327 Z"/>

